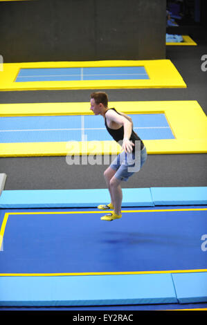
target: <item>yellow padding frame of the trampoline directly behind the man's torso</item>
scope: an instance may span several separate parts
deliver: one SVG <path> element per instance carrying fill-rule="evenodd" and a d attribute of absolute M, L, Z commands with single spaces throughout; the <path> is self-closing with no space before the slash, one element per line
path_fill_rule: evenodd
<path fill-rule="evenodd" d="M 0 104 L 1 116 L 90 115 L 89 102 Z M 109 102 L 127 114 L 164 113 L 175 139 L 144 140 L 148 154 L 207 153 L 207 118 L 199 103 L 191 101 Z M 28 111 L 28 113 L 26 113 Z M 107 132 L 107 131 L 106 131 Z M 81 156 L 118 154 L 114 141 L 1 143 L 0 156 Z"/>

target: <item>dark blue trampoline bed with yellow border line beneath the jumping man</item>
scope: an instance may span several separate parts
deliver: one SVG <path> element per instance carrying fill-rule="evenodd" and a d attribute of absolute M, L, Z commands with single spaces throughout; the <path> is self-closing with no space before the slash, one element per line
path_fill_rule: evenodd
<path fill-rule="evenodd" d="M 124 208 L 113 222 L 91 208 L 2 210 L 1 223 L 6 212 L 18 214 L 8 216 L 0 273 L 204 270 L 204 207 Z"/>

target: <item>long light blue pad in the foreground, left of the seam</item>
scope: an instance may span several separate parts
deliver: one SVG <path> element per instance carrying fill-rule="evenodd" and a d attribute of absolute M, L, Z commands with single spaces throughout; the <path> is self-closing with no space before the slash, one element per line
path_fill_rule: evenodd
<path fill-rule="evenodd" d="M 171 275 L 0 277 L 0 306 L 177 303 Z"/>

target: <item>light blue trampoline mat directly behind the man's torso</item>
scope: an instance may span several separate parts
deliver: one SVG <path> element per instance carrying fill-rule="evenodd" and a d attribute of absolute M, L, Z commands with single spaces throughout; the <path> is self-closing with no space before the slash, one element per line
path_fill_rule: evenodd
<path fill-rule="evenodd" d="M 142 140 L 174 139 L 165 114 L 133 114 Z M 102 116 L 18 116 L 0 118 L 0 143 L 112 140 Z"/>

